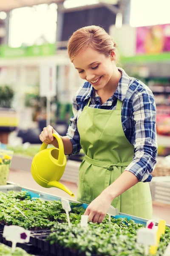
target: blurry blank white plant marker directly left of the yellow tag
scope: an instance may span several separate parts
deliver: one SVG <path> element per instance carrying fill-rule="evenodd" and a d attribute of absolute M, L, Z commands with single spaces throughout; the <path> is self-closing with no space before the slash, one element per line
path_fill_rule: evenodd
<path fill-rule="evenodd" d="M 144 255 L 149 254 L 149 246 L 156 244 L 156 232 L 149 228 L 137 230 L 137 243 L 144 245 Z"/>

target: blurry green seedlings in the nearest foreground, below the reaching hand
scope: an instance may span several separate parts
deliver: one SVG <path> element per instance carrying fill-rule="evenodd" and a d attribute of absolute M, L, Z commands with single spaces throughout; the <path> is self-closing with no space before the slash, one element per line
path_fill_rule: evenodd
<path fill-rule="evenodd" d="M 100 224 L 90 222 L 87 229 L 81 228 L 78 220 L 72 222 L 71 228 L 65 223 L 55 223 L 47 240 L 86 256 L 144 256 L 144 247 L 136 243 L 136 230 L 140 227 L 143 225 L 122 218 L 112 219 L 111 223 L 107 218 Z M 157 256 L 163 255 L 169 241 L 170 229 L 167 228 L 161 236 Z"/>

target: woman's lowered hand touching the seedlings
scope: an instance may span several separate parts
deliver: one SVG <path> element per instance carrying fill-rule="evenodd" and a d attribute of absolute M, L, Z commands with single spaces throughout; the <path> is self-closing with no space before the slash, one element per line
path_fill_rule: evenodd
<path fill-rule="evenodd" d="M 84 215 L 88 215 L 88 221 L 102 222 L 111 206 L 113 198 L 104 190 L 91 204 L 89 204 Z"/>

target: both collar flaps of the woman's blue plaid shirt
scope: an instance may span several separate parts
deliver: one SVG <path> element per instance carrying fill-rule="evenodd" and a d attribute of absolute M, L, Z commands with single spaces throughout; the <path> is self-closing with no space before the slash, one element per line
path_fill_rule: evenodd
<path fill-rule="evenodd" d="M 116 87 L 116 90 L 113 96 L 123 101 L 123 99 L 125 99 L 127 88 L 130 83 L 130 77 L 126 74 L 125 70 L 123 70 L 122 68 L 118 67 L 118 70 L 119 72 L 122 73 L 122 77 L 119 80 L 119 83 Z M 94 87 L 91 85 L 90 90 L 86 95 L 84 101 L 90 98 L 91 103 L 93 104 L 95 102 L 95 96 L 96 96 L 96 93 L 95 93 Z"/>

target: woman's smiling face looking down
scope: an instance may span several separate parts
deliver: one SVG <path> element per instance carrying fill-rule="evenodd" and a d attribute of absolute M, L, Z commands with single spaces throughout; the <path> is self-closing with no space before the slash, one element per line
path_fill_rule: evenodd
<path fill-rule="evenodd" d="M 95 90 L 100 90 L 114 84 L 114 73 L 117 72 L 114 60 L 114 51 L 106 57 L 89 47 L 74 58 L 73 64 L 81 79 L 90 82 Z"/>

